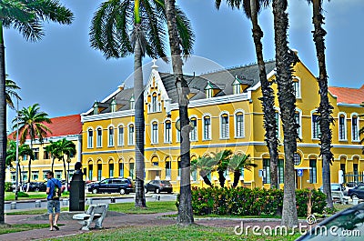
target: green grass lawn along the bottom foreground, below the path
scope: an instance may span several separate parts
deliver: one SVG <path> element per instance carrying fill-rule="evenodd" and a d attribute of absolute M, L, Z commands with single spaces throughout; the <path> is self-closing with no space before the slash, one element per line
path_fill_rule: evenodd
<path fill-rule="evenodd" d="M 233 227 L 211 226 L 133 226 L 89 232 L 77 236 L 66 236 L 51 240 L 295 240 L 295 236 L 238 236 Z M 48 239 L 49 240 L 49 239 Z"/>

